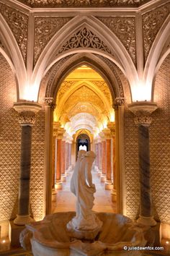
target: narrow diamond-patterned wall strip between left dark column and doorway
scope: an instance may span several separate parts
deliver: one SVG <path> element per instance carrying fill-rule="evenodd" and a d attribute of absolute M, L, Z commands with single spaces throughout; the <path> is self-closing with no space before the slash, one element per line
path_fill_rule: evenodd
<path fill-rule="evenodd" d="M 35 221 L 42 219 L 43 205 L 43 171 L 45 141 L 45 110 L 36 114 L 32 127 L 32 166 L 30 181 L 30 210 Z"/>

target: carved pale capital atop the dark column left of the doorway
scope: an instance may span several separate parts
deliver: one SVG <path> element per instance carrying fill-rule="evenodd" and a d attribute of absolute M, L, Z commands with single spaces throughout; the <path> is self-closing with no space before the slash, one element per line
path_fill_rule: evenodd
<path fill-rule="evenodd" d="M 35 124 L 35 114 L 41 109 L 41 105 L 32 101 L 14 103 L 14 110 L 19 113 L 19 124 L 22 126 Z"/>

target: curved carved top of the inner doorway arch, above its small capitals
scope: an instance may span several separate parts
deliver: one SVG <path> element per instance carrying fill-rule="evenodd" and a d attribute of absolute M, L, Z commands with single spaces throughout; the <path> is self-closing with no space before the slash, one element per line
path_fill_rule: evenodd
<path fill-rule="evenodd" d="M 74 54 L 67 58 L 63 63 L 58 62 L 50 71 L 48 82 L 45 89 L 45 97 L 56 99 L 58 90 L 63 80 L 66 79 L 69 73 L 71 73 L 77 67 L 81 65 L 87 65 L 99 73 L 109 87 L 109 91 L 112 95 L 112 102 L 115 98 L 124 98 L 124 88 L 122 77 L 117 72 L 117 69 L 112 66 L 112 61 L 104 62 L 99 56 L 94 54 Z M 59 67 L 59 68 L 58 68 Z M 41 87 L 40 87 L 41 89 Z M 39 91 L 40 95 L 40 91 Z"/>

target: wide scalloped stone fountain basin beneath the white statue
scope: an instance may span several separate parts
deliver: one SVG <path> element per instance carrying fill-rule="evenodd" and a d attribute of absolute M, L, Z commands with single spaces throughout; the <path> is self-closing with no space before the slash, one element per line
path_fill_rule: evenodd
<path fill-rule="evenodd" d="M 32 236 L 30 242 L 33 255 L 140 255 L 139 251 L 124 249 L 145 246 L 146 240 L 140 226 L 120 214 L 95 214 L 103 222 L 103 226 L 102 231 L 93 241 L 83 241 L 69 236 L 66 224 L 76 215 L 74 212 L 54 213 L 46 216 L 43 221 L 26 225 L 27 231 Z M 25 247 L 23 246 L 24 239 L 20 237 L 22 247 Z"/>

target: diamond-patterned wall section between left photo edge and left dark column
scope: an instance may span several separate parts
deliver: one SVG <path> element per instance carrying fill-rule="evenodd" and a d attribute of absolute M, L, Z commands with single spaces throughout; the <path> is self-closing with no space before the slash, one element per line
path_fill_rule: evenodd
<path fill-rule="evenodd" d="M 0 220 L 15 218 L 20 166 L 20 132 L 14 74 L 4 56 L 0 54 Z"/>

